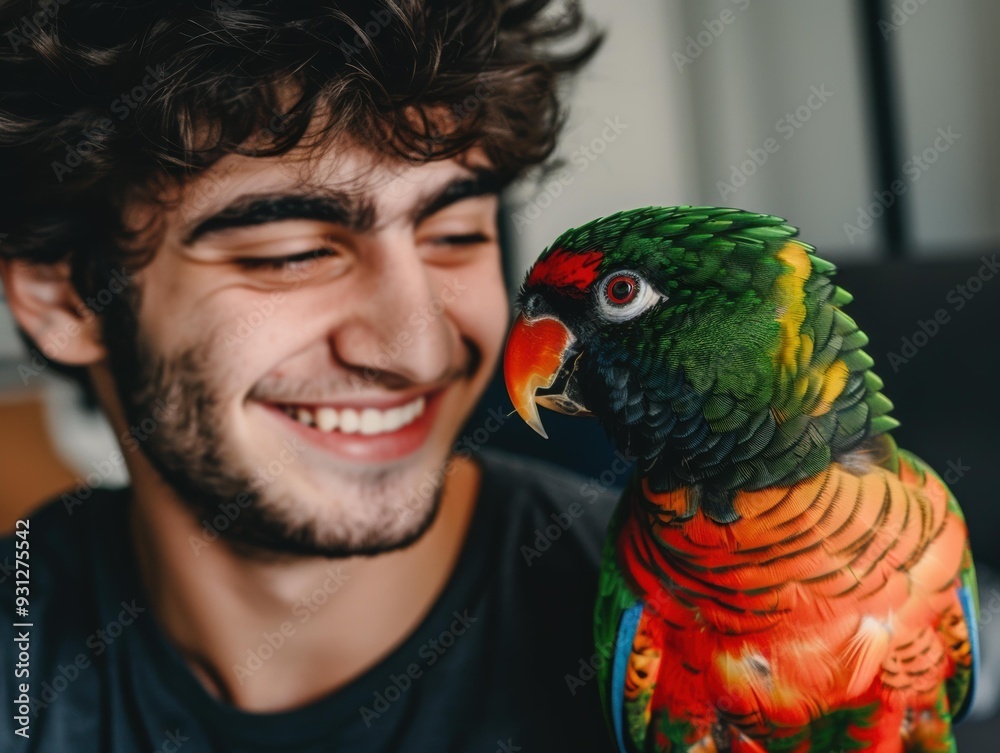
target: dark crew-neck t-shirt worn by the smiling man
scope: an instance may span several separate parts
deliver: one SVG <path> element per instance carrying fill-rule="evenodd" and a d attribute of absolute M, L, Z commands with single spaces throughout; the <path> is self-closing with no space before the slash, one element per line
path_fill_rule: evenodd
<path fill-rule="evenodd" d="M 69 509 L 53 500 L 27 531 L 26 618 L 16 613 L 24 535 L 0 541 L 0 750 L 614 750 L 593 679 L 591 613 L 615 494 L 513 456 L 476 459 L 480 498 L 428 615 L 362 676 L 274 714 L 213 698 L 161 632 L 138 576 L 125 491 L 98 490 Z M 281 639 L 262 637 L 258 659 L 270 658 L 268 642 L 280 652 Z M 27 738 L 16 734 L 25 696 Z"/>

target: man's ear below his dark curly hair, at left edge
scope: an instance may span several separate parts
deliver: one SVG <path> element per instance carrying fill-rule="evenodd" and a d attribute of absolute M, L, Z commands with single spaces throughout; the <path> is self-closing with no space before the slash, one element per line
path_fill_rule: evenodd
<path fill-rule="evenodd" d="M 72 366 L 104 358 L 97 314 L 77 295 L 68 263 L 0 258 L 0 281 L 14 318 L 46 358 Z"/>

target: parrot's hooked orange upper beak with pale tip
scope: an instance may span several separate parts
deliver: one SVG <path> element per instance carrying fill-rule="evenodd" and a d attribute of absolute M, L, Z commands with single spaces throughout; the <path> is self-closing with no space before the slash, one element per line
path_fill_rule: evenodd
<path fill-rule="evenodd" d="M 535 393 L 555 382 L 575 339 L 558 319 L 526 319 L 524 314 L 518 315 L 507 335 L 503 357 L 507 394 L 517 414 L 546 439 Z"/>

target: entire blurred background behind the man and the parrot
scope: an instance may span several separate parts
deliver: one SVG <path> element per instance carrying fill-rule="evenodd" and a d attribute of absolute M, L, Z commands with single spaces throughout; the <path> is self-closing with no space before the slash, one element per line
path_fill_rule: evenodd
<path fill-rule="evenodd" d="M 619 209 L 713 204 L 785 217 L 838 264 L 838 282 L 855 295 L 848 313 L 871 338 L 868 351 L 903 424 L 900 444 L 939 470 L 966 469 L 954 490 L 974 550 L 984 573 L 1000 565 L 1000 279 L 982 272 L 1000 246 L 1000 6 L 585 4 L 607 30 L 606 45 L 570 90 L 562 166 L 506 197 L 512 291 L 556 235 Z M 940 309 L 948 323 L 890 365 L 890 354 L 901 354 Z M 4 526 L 80 483 L 114 449 L 100 418 L 51 373 L 33 373 L 28 356 L 0 306 Z M 509 410 L 499 382 L 483 401 L 489 408 Z M 610 467 L 595 427 L 558 416 L 546 426 L 548 443 L 515 421 L 489 441 L 595 478 Z M 126 481 L 118 470 L 102 478 Z M 1000 589 L 983 577 L 987 604 Z M 984 630 L 1000 624 L 1000 615 L 987 616 Z M 997 643 L 987 649 L 984 715 L 1000 674 Z M 962 734 L 961 750 L 993 751 L 1000 729 L 994 720 Z"/>

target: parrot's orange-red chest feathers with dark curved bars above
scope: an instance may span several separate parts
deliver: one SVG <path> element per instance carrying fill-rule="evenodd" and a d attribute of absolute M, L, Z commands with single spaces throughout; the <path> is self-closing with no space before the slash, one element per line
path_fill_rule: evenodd
<path fill-rule="evenodd" d="M 698 716 L 723 699 L 798 724 L 865 698 L 909 702 L 954 671 L 967 531 L 930 474 L 833 463 L 737 493 L 727 525 L 686 516 L 689 489 L 637 488 L 618 552 L 646 603 L 645 676 L 663 680 L 667 706 Z"/>

